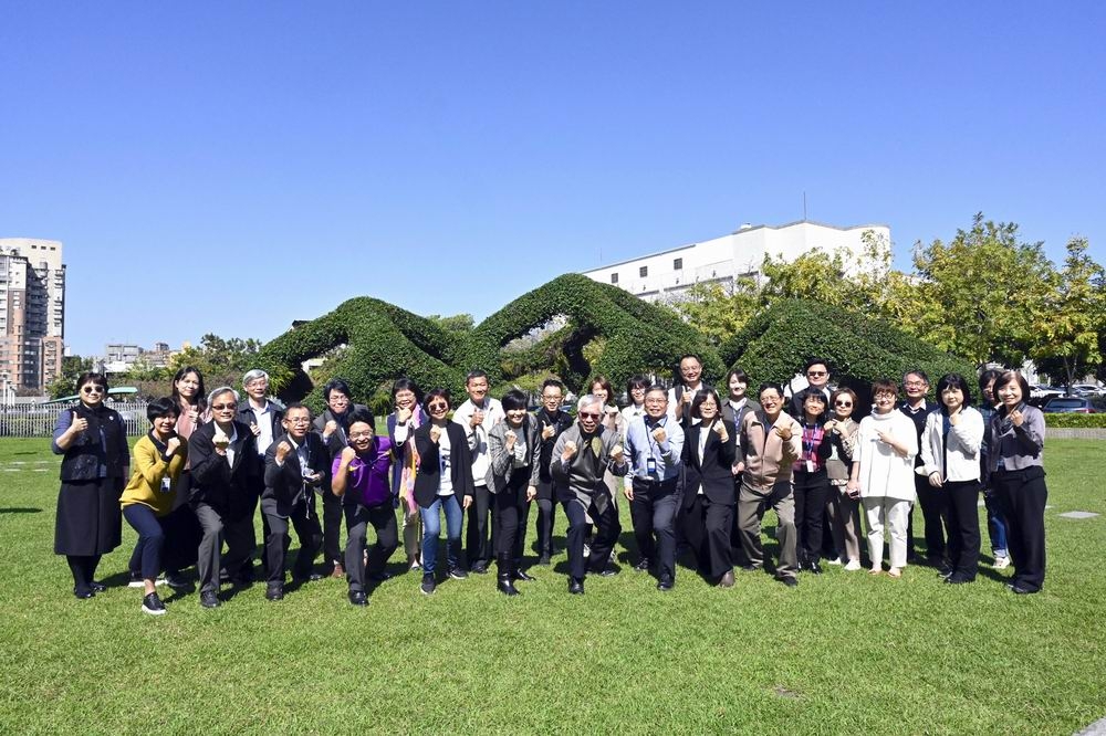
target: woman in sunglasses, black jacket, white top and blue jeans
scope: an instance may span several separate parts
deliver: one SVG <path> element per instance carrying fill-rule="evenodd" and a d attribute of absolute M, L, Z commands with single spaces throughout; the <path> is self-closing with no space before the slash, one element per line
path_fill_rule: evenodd
<path fill-rule="evenodd" d="M 439 512 L 446 513 L 446 565 L 449 577 L 460 580 L 468 574 L 458 553 L 461 547 L 463 508 L 472 503 L 472 455 L 465 428 L 447 419 L 449 391 L 434 389 L 422 400 L 430 421 L 415 430 L 407 443 L 415 453 L 415 502 L 422 516 L 422 585 L 429 596 L 436 583 L 434 569 L 438 561 L 438 535 L 441 533 Z"/>

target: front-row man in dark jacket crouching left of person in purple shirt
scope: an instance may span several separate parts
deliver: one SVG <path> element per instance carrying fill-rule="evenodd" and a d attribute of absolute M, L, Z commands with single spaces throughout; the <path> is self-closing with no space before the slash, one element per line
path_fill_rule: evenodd
<path fill-rule="evenodd" d="M 289 522 L 300 538 L 292 580 L 319 579 L 311 566 L 323 543 L 323 532 L 315 513 L 315 488 L 330 475 L 330 454 L 323 440 L 311 432 L 311 411 L 293 403 L 284 411 L 284 435 L 265 452 L 265 490 L 261 494 L 261 513 L 269 522 L 265 538 L 265 560 L 269 579 L 265 598 L 284 598 L 284 558 L 292 537 Z"/>

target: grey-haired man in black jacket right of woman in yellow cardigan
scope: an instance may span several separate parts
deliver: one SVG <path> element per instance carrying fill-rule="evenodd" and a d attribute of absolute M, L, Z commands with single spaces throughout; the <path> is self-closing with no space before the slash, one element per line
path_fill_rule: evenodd
<path fill-rule="evenodd" d="M 228 569 L 241 569 L 253 551 L 253 488 L 261 475 L 261 462 L 253 432 L 234 420 L 238 392 L 229 386 L 217 388 L 208 399 L 208 408 L 213 421 L 188 438 L 192 474 L 189 503 L 204 532 L 196 565 L 200 604 L 216 608 L 223 540 Z"/>

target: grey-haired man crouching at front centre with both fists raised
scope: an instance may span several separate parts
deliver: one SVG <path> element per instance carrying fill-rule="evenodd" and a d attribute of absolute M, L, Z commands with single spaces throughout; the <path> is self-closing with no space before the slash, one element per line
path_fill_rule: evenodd
<path fill-rule="evenodd" d="M 576 403 L 577 421 L 557 439 L 550 463 L 557 500 L 568 517 L 568 592 L 573 595 L 584 592 L 588 561 L 584 558 L 584 534 L 588 517 L 598 527 L 592 539 L 592 572 L 615 575 L 607 567 L 607 558 L 622 526 L 604 473 L 609 470 L 622 477 L 629 465 L 618 435 L 599 423 L 602 414 L 603 402 L 598 397 L 591 393 L 582 397 Z"/>

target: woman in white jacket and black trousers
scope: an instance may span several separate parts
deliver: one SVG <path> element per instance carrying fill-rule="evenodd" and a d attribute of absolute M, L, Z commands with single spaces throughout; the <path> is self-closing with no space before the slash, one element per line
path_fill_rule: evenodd
<path fill-rule="evenodd" d="M 979 452 L 983 416 L 971 404 L 971 389 L 959 374 L 937 381 L 939 411 L 926 418 L 921 460 L 929 485 L 948 494 L 949 583 L 972 582 L 979 568 Z"/>

